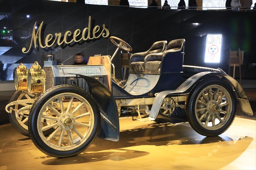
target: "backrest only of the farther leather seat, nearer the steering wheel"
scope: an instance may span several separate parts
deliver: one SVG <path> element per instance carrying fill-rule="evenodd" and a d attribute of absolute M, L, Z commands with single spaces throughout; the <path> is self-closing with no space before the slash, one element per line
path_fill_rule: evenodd
<path fill-rule="evenodd" d="M 143 62 L 144 58 L 148 54 L 161 53 L 161 52 L 165 51 L 166 44 L 167 44 L 167 41 L 154 42 L 147 51 L 140 52 L 140 53 L 134 53 L 131 56 L 130 63 L 131 62 Z"/>

